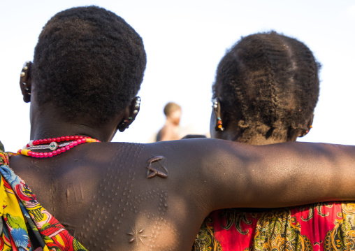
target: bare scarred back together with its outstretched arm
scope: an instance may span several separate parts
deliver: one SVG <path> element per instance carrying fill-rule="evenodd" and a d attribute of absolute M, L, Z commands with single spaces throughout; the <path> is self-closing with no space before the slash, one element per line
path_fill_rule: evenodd
<path fill-rule="evenodd" d="M 10 166 L 88 250 L 190 250 L 212 210 L 355 199 L 355 147 L 342 145 L 87 143 Z"/>

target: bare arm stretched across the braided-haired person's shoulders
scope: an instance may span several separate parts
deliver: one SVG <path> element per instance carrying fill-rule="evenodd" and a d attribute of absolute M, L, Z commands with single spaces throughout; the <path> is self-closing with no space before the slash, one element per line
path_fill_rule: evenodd
<path fill-rule="evenodd" d="M 175 155 L 181 185 L 208 210 L 355 200 L 354 146 L 196 138 L 177 141 Z"/>

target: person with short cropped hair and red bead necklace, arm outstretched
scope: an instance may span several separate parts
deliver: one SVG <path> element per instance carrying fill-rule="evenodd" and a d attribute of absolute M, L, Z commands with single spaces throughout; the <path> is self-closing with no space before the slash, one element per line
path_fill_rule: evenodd
<path fill-rule="evenodd" d="M 145 63 L 142 38 L 106 9 L 45 24 L 20 73 L 30 141 L 0 151 L 0 250 L 190 250 L 212 210 L 355 199 L 354 146 L 111 143 L 138 115 Z"/>

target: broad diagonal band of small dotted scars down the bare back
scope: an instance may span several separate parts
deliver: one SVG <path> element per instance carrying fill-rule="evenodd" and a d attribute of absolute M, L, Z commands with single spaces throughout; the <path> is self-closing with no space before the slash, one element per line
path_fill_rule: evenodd
<path fill-rule="evenodd" d="M 131 224 L 131 227 L 127 226 L 128 229 L 124 231 L 121 219 L 124 218 L 126 216 L 125 213 L 131 209 L 130 204 L 127 205 L 127 203 L 132 201 L 131 189 L 136 176 L 134 168 L 138 166 L 137 160 L 139 158 L 137 157 L 140 156 L 140 151 L 143 149 L 143 146 L 144 145 L 139 144 L 122 143 L 122 146 L 118 148 L 115 156 L 111 159 L 106 170 L 106 176 L 103 175 L 104 177 L 97 193 L 92 195 L 92 205 L 89 207 L 87 222 L 85 222 L 81 230 L 83 236 L 80 237 L 80 241 L 82 241 L 83 245 L 86 244 L 90 247 L 87 247 L 89 250 L 114 250 L 110 245 L 117 245 L 117 238 L 115 238 L 115 236 L 117 237 L 123 234 L 125 238 L 124 242 L 127 243 L 127 245 L 129 245 L 130 239 L 134 237 L 127 235 L 127 232 L 133 233 L 131 227 L 135 227 L 134 223 Z M 129 159 L 133 159 L 133 162 L 127 165 Z M 116 168 L 117 166 L 125 166 L 128 173 L 122 171 L 123 168 Z M 85 190 L 83 190 L 83 192 L 85 192 Z M 138 212 L 139 209 L 136 210 Z M 108 215 L 108 217 L 105 215 Z M 101 227 L 98 227 L 98 231 L 94 233 L 92 229 L 94 226 L 96 227 L 96 222 L 99 222 Z M 104 231 L 102 227 L 108 229 L 108 231 Z M 143 229 L 143 226 L 137 227 L 140 227 L 138 230 Z M 145 227 L 145 229 L 147 228 Z M 144 230 L 143 234 L 146 234 L 146 231 L 147 230 Z M 144 245 L 147 245 L 147 240 L 150 239 L 149 236 L 147 238 L 140 236 L 140 238 L 144 241 Z M 135 239 L 138 243 L 141 242 L 139 238 Z M 100 242 L 103 242 L 100 248 L 94 247 L 96 243 Z M 136 247 L 134 243 L 130 246 L 133 247 L 133 249 Z"/>

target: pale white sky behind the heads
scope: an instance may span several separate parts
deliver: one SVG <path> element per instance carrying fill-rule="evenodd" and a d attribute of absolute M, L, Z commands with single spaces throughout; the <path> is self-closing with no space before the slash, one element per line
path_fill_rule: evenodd
<path fill-rule="evenodd" d="M 29 141 L 29 103 L 22 101 L 19 79 L 42 27 L 60 10 L 92 4 L 131 24 L 147 52 L 140 113 L 114 141 L 149 141 L 163 126 L 169 101 L 182 106 L 182 128 L 207 133 L 219 60 L 241 36 L 273 29 L 305 43 L 323 65 L 314 128 L 302 141 L 355 145 L 355 1 L 0 0 L 0 141 L 6 150 Z"/>

